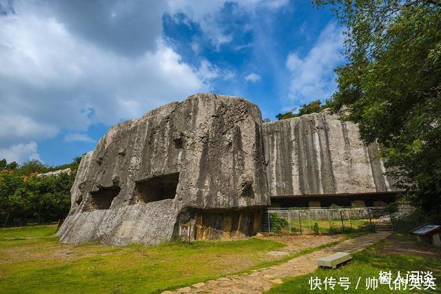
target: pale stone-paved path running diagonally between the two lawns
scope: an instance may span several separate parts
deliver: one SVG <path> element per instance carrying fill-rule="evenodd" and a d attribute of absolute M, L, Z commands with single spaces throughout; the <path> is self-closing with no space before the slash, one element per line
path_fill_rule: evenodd
<path fill-rule="evenodd" d="M 262 293 L 269 290 L 274 284 L 282 284 L 281 278 L 306 275 L 317 269 L 316 260 L 326 255 L 339 251 L 356 252 L 365 249 L 384 238 L 391 232 L 369 233 L 358 238 L 353 238 L 307 255 L 293 258 L 282 264 L 268 268 L 251 271 L 242 275 L 227 275 L 217 280 L 209 280 L 179 288 L 176 291 L 165 291 L 163 294 L 172 293 Z"/>

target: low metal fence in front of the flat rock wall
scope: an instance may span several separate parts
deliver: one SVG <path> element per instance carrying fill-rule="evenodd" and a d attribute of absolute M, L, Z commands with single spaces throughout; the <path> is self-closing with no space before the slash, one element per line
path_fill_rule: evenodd
<path fill-rule="evenodd" d="M 351 233 L 356 231 L 409 231 L 420 224 L 409 205 L 388 207 L 329 207 L 267 209 L 260 233 Z"/>

